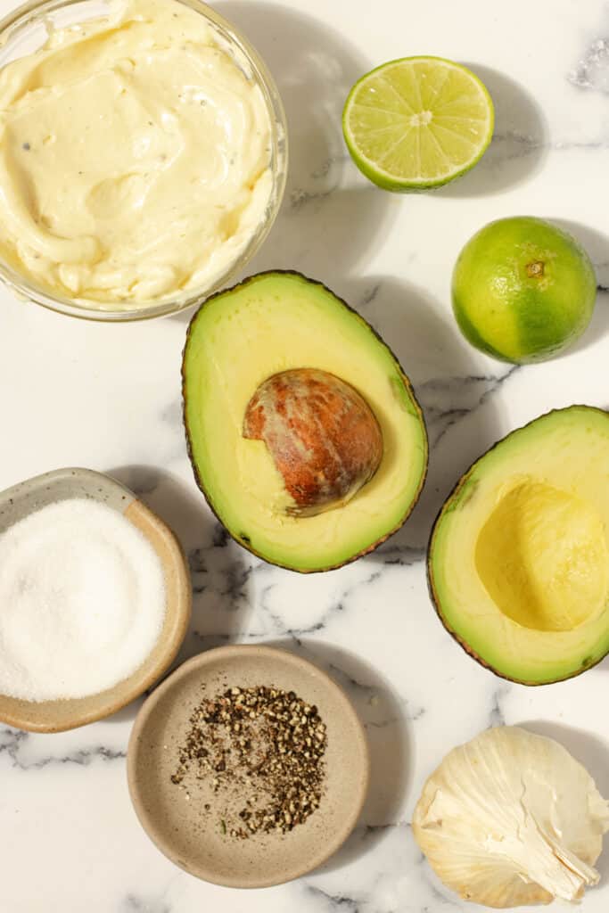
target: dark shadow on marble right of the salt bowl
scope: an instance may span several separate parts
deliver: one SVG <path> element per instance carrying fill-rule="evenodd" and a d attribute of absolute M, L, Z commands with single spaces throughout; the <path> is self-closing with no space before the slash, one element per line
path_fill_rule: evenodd
<path fill-rule="evenodd" d="M 171 527 L 188 559 L 193 618 L 184 644 L 164 676 L 167 677 L 191 656 L 236 640 L 247 626 L 253 611 L 249 593 L 251 563 L 246 561 L 247 553 L 212 515 L 203 495 L 189 490 L 180 478 L 152 466 L 115 467 L 108 472 Z M 110 719 L 132 719 L 138 709 L 136 701 Z"/>

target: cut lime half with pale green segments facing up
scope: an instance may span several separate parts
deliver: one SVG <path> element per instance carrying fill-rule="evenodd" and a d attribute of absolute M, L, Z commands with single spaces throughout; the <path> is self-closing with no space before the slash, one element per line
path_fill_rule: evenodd
<path fill-rule="evenodd" d="M 384 190 L 424 190 L 469 171 L 493 135 L 493 102 L 466 67 L 392 60 L 355 83 L 342 112 L 353 162 Z"/>

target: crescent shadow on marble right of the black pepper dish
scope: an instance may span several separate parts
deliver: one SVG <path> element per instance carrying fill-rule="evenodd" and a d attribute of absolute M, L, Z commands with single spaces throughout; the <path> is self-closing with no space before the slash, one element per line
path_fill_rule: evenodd
<path fill-rule="evenodd" d="M 412 783 L 412 735 L 404 702 L 379 672 L 360 656 L 316 639 L 278 639 L 289 650 L 324 669 L 352 701 L 366 731 L 371 758 L 368 796 L 347 842 L 318 871 L 331 872 L 365 855 L 404 814 Z"/>

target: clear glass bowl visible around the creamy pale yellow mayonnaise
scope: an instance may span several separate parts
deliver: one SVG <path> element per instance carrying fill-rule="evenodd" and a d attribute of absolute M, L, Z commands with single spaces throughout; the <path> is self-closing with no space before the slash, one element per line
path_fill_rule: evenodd
<path fill-rule="evenodd" d="M 268 110 L 271 127 L 271 154 L 269 169 L 272 187 L 265 213 L 252 232 L 247 247 L 228 265 L 222 275 L 216 276 L 204 287 L 185 289 L 173 296 L 150 301 L 88 301 L 70 299 L 50 292 L 18 273 L 0 257 L 0 280 L 12 289 L 17 297 L 29 299 L 50 310 L 85 320 L 127 321 L 149 320 L 184 310 L 221 289 L 236 276 L 254 257 L 263 243 L 278 214 L 288 171 L 288 133 L 286 115 L 277 86 L 257 51 L 247 38 L 219 16 L 201 0 L 174 0 L 189 6 L 205 16 L 215 31 L 223 49 L 230 52 L 238 66 L 260 89 Z M 107 16 L 115 4 L 109 0 L 30 0 L 0 20 L 0 68 L 12 60 L 31 54 L 47 40 L 50 28 L 66 28 L 89 19 Z"/>

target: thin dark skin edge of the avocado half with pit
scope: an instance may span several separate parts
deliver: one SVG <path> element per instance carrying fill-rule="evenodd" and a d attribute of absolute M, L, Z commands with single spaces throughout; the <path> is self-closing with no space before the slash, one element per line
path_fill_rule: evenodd
<path fill-rule="evenodd" d="M 415 407 L 416 414 L 421 423 L 421 428 L 423 431 L 423 440 L 424 440 L 424 445 L 425 445 L 425 471 L 421 477 L 419 487 L 416 490 L 415 498 L 413 498 L 409 509 L 404 514 L 404 517 L 400 520 L 400 522 L 397 524 L 397 526 L 394 527 L 393 530 L 389 530 L 389 532 L 385 536 L 383 536 L 381 539 L 377 540 L 376 542 L 373 542 L 373 544 L 369 548 L 358 552 L 356 555 L 353 555 L 352 558 L 350 558 L 348 561 L 341 561 L 339 564 L 333 564 L 329 567 L 323 567 L 323 568 L 319 568 L 319 569 L 315 569 L 315 570 L 289 567 L 286 564 L 281 564 L 279 561 L 269 561 L 266 555 L 261 554 L 256 549 L 253 549 L 248 542 L 246 542 L 242 539 L 239 539 L 238 536 L 236 536 L 236 534 L 232 530 L 229 530 L 225 526 L 225 524 L 222 522 L 222 520 L 218 517 L 217 512 L 215 511 L 214 506 L 212 504 L 211 498 L 209 497 L 209 495 L 207 494 L 207 491 L 205 490 L 205 485 L 203 484 L 203 479 L 199 476 L 199 473 L 195 466 L 194 458 L 193 458 L 193 450 L 192 450 L 192 446 L 191 446 L 190 431 L 188 428 L 188 422 L 186 421 L 185 405 L 186 405 L 186 397 L 188 395 L 188 391 L 187 391 L 186 376 L 185 376 L 185 372 L 184 372 L 184 356 L 185 356 L 188 340 L 190 339 L 190 334 L 191 334 L 191 331 L 192 331 L 192 328 L 194 325 L 194 321 L 196 320 L 199 312 L 201 310 L 203 310 L 205 308 L 205 305 L 209 304 L 210 301 L 213 301 L 215 298 L 218 298 L 220 295 L 226 295 L 227 292 L 235 291 L 236 289 L 242 289 L 242 288 L 244 288 L 244 286 L 249 285 L 250 282 L 252 282 L 253 280 L 255 280 L 261 276 L 296 276 L 298 278 L 305 279 L 307 282 L 310 282 L 311 285 L 320 286 L 322 289 L 329 292 L 329 294 L 331 294 L 335 299 L 337 299 L 338 301 L 341 302 L 341 305 L 346 310 L 349 310 L 355 317 L 357 317 L 358 320 L 363 320 L 363 322 L 368 327 L 370 327 L 371 331 L 373 331 L 374 336 L 380 342 L 383 343 L 383 346 L 385 346 L 385 348 L 389 349 L 389 352 L 391 352 L 392 356 L 394 357 L 394 361 L 400 369 L 400 374 L 402 375 L 402 380 L 404 382 L 404 386 L 406 387 L 408 394 L 410 395 L 410 397 L 412 399 L 412 403 Z M 376 330 L 374 330 L 373 326 L 371 326 L 371 324 L 368 323 L 367 320 L 364 320 L 362 315 L 360 313 L 358 313 L 357 310 L 352 308 L 351 305 L 347 304 L 347 302 L 344 299 L 341 299 L 341 297 L 339 295 L 337 295 L 336 292 L 329 289 L 328 286 L 324 285 L 323 282 L 320 282 L 318 279 L 311 279 L 308 276 L 305 276 L 304 273 L 300 273 L 297 269 L 265 269 L 262 272 L 254 273 L 252 276 L 247 276 L 247 278 L 242 279 L 241 282 L 237 282 L 236 285 L 231 286 L 228 289 L 220 289 L 220 291 L 216 291 L 213 295 L 210 295 L 209 298 L 205 299 L 205 301 L 203 301 L 199 305 L 199 307 L 194 311 L 193 317 L 191 318 L 191 320 L 188 324 L 188 330 L 186 331 L 186 339 L 184 341 L 184 349 L 182 350 L 181 373 L 182 373 L 182 418 L 183 418 L 183 422 L 184 422 L 184 430 L 186 432 L 186 448 L 188 451 L 188 459 L 190 460 L 190 465 L 193 468 L 194 480 L 195 480 L 198 488 L 203 493 L 205 500 L 207 501 L 207 505 L 208 505 L 209 509 L 212 511 L 212 513 L 214 514 L 215 519 L 217 519 L 217 521 L 221 524 L 222 528 L 224 530 L 226 530 L 226 532 L 231 537 L 231 539 L 235 540 L 236 543 L 238 545 L 240 545 L 243 549 L 247 549 L 247 551 L 251 551 L 251 553 L 253 555 L 256 555 L 257 558 L 261 558 L 262 561 L 266 561 L 268 564 L 273 564 L 276 567 L 285 568 L 287 571 L 294 571 L 296 573 L 308 573 L 309 574 L 309 573 L 324 573 L 326 571 L 336 571 L 339 568 L 344 567 L 346 564 L 351 564 L 352 561 L 357 561 L 359 558 L 362 558 L 364 555 L 370 554 L 372 551 L 375 551 L 376 549 L 378 549 L 380 545 L 383 545 L 383 542 L 386 542 L 391 536 L 394 535 L 394 533 L 396 533 L 398 530 L 402 529 L 405 521 L 410 517 L 411 513 L 415 509 L 415 505 L 421 495 L 421 491 L 423 490 L 423 487 L 425 485 L 425 479 L 427 477 L 427 469 L 428 469 L 428 465 L 429 465 L 429 445 L 428 445 L 427 427 L 425 425 L 425 417 L 423 415 L 423 410 L 421 409 L 421 406 L 420 406 L 418 400 L 416 399 L 415 391 L 413 390 L 412 383 L 410 383 L 410 380 L 404 373 L 404 369 L 402 368 L 402 365 L 395 357 L 394 352 L 392 352 L 392 350 L 389 348 L 387 343 L 383 340 L 382 336 L 379 333 L 377 333 Z"/>

